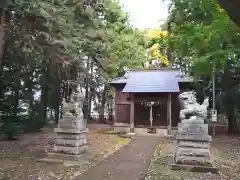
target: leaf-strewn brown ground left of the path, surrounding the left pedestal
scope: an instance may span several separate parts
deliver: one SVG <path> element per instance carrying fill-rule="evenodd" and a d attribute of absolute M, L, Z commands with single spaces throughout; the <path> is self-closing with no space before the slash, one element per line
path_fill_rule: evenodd
<path fill-rule="evenodd" d="M 70 180 L 130 141 L 118 135 L 93 131 L 88 135 L 88 143 L 89 151 L 96 156 L 88 164 L 66 167 L 36 162 L 52 150 L 54 136 L 52 130 L 48 130 L 24 135 L 18 141 L 0 141 L 0 180 Z"/>

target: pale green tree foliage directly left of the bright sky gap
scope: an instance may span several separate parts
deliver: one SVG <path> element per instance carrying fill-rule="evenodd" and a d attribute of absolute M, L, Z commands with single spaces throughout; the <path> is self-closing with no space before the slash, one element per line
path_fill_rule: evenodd
<path fill-rule="evenodd" d="M 120 76 L 124 68 L 141 67 L 145 49 L 141 44 L 144 37 L 129 24 L 129 16 L 116 1 L 106 0 L 108 48 L 105 71 L 108 77 Z"/>

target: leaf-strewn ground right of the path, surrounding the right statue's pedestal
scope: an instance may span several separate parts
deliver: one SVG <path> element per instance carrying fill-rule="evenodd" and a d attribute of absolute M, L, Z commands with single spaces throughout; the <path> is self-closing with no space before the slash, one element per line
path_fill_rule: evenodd
<path fill-rule="evenodd" d="M 172 171 L 175 141 L 162 140 L 154 152 L 145 180 L 239 180 L 240 179 L 240 138 L 218 136 L 213 139 L 212 157 L 219 175 Z"/>

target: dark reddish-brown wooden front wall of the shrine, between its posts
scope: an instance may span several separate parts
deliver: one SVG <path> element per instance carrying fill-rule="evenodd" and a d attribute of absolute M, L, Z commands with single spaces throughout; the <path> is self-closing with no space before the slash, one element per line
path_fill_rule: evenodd
<path fill-rule="evenodd" d="M 123 93 L 124 86 L 115 88 L 115 122 L 130 123 L 130 93 Z M 171 94 L 172 126 L 177 126 L 179 120 L 180 104 L 178 93 Z M 150 126 L 149 107 L 142 105 L 142 101 L 160 101 L 160 105 L 153 107 L 153 126 L 167 126 L 168 93 L 134 93 L 134 125 Z"/>

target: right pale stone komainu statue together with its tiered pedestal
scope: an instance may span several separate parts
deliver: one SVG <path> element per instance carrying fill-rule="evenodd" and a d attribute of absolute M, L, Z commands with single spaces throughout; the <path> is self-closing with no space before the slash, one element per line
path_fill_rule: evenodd
<path fill-rule="evenodd" d="M 179 95 L 182 106 L 181 123 L 178 123 L 176 135 L 177 147 L 174 155 L 173 170 L 217 173 L 210 152 L 211 136 L 208 134 L 207 109 L 209 99 L 197 103 L 193 91 Z"/>

